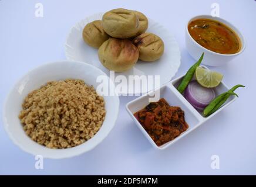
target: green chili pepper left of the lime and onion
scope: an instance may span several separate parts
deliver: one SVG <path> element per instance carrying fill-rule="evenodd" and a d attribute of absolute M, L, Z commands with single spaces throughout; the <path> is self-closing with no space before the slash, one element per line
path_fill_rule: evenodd
<path fill-rule="evenodd" d="M 180 85 L 178 85 L 177 90 L 180 93 L 183 93 L 184 90 L 187 88 L 187 85 L 189 84 L 189 82 L 191 81 L 191 79 L 194 76 L 194 73 L 196 71 L 196 68 L 201 64 L 201 61 L 203 60 L 204 57 L 204 53 L 201 55 L 201 57 L 199 58 L 199 60 L 190 67 L 190 69 L 187 71 L 186 75 L 183 77 Z"/>

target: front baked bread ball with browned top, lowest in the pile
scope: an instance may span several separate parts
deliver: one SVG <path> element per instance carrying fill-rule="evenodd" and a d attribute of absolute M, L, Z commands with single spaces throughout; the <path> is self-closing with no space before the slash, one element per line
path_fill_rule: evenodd
<path fill-rule="evenodd" d="M 136 64 L 139 50 L 130 40 L 110 38 L 100 46 L 98 56 L 107 69 L 122 72 Z"/>

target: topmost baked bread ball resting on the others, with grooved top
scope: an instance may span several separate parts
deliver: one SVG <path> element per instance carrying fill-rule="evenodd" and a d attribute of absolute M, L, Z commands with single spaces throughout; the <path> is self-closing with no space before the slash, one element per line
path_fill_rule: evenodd
<path fill-rule="evenodd" d="M 139 30 L 139 18 L 136 13 L 123 8 L 106 12 L 102 23 L 107 34 L 119 39 L 134 37 Z"/>

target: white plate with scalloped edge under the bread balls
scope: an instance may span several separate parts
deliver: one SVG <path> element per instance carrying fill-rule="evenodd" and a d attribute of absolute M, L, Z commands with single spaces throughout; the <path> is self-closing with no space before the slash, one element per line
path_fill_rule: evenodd
<path fill-rule="evenodd" d="M 103 13 L 97 13 L 86 19 L 80 20 L 80 22 L 72 27 L 66 39 L 65 54 L 68 60 L 82 61 L 92 64 L 109 75 L 109 70 L 103 67 L 98 60 L 97 49 L 88 46 L 82 38 L 82 31 L 85 25 L 93 20 L 102 19 L 102 16 Z M 119 73 L 116 72 L 115 75 L 124 75 L 126 78 L 128 78 L 129 75 L 160 75 L 160 85 L 163 85 L 171 80 L 176 74 L 178 67 L 180 67 L 180 49 L 176 39 L 169 30 L 154 20 L 149 19 L 149 28 L 147 29 L 147 32 L 157 34 L 163 39 L 165 46 L 163 56 L 160 60 L 152 63 L 138 61 L 132 70 Z M 116 83 L 116 85 L 117 84 L 119 83 Z M 149 91 L 149 89 L 146 91 L 140 89 L 139 93 L 147 91 Z"/>

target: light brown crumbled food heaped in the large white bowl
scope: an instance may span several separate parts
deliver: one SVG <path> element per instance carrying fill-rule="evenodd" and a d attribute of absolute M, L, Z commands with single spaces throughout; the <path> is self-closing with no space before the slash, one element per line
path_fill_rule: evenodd
<path fill-rule="evenodd" d="M 26 96 L 19 119 L 26 134 L 49 148 L 78 146 L 92 138 L 105 119 L 105 102 L 79 79 L 51 81 Z"/>

